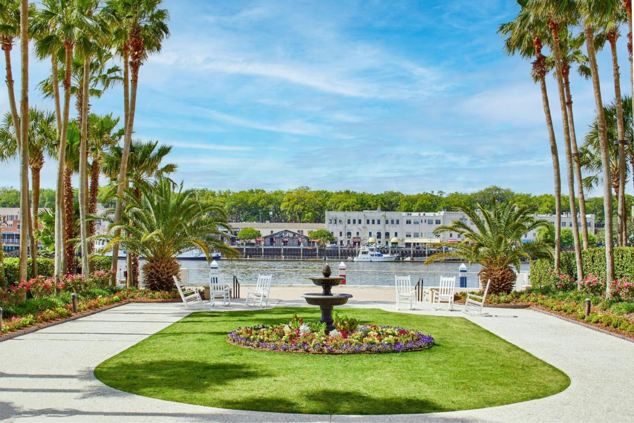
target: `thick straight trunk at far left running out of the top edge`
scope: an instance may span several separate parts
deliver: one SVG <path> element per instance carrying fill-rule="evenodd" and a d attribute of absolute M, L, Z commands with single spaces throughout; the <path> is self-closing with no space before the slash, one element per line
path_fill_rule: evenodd
<path fill-rule="evenodd" d="M 19 280 L 27 279 L 27 241 L 29 237 L 29 0 L 20 1 L 20 273 Z M 13 122 L 14 124 L 16 121 Z M 26 225 L 25 225 L 26 223 Z"/>

